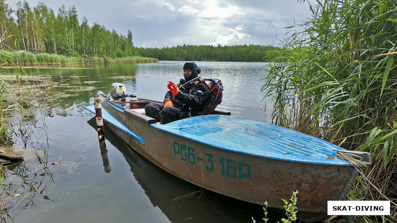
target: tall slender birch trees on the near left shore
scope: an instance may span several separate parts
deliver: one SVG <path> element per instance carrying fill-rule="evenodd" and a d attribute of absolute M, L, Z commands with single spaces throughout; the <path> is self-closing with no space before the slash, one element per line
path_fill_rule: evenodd
<path fill-rule="evenodd" d="M 85 17 L 78 18 L 74 6 L 62 5 L 56 14 L 43 2 L 32 8 L 19 1 L 13 10 L 0 0 L 0 33 L 8 37 L 0 49 L 66 56 L 138 56 L 130 30 L 124 36 L 97 23 L 90 27 Z"/>

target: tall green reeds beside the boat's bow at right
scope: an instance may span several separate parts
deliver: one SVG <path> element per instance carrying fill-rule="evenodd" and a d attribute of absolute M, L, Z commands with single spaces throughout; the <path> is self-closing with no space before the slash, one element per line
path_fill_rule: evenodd
<path fill-rule="evenodd" d="M 317 2 L 313 17 L 268 52 L 272 120 L 370 152 L 364 174 L 374 186 L 359 177 L 350 196 L 391 200 L 397 220 L 397 1 Z"/>

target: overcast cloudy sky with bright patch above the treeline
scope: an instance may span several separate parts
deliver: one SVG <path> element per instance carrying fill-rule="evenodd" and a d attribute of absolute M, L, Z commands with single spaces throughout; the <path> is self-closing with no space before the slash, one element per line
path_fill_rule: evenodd
<path fill-rule="evenodd" d="M 5 0 L 16 9 L 18 0 Z M 39 0 L 26 0 L 37 6 Z M 41 0 L 56 14 L 75 6 L 80 19 L 127 35 L 135 47 L 273 45 L 294 22 L 310 16 L 297 0 Z M 277 42 L 276 42 L 277 43 Z"/>

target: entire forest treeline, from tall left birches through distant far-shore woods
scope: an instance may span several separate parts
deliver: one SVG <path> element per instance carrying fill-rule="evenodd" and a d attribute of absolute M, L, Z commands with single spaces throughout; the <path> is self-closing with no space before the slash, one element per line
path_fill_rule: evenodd
<path fill-rule="evenodd" d="M 31 7 L 26 1 L 17 2 L 13 9 L 0 0 L 0 34 L 1 50 L 83 58 L 142 56 L 160 60 L 263 61 L 267 51 L 273 49 L 260 45 L 135 48 L 130 30 L 125 36 L 96 22 L 89 26 L 85 17 L 79 19 L 74 6 L 62 5 L 56 13 L 43 2 Z M 40 59 L 31 60 L 26 63 L 35 64 Z"/>

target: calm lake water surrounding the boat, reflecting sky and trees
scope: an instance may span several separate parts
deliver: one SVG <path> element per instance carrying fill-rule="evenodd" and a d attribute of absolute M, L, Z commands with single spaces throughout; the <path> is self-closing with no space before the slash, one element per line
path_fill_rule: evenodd
<path fill-rule="evenodd" d="M 262 206 L 201 191 L 149 163 L 106 127 L 106 148 L 99 145 L 94 115 L 85 106 L 96 97 L 108 98 L 113 82 L 124 83 L 138 98 L 162 101 L 168 81 L 183 77 L 183 64 L 27 68 L 29 75 L 51 76 L 53 88 L 41 102 L 43 113 L 31 117 L 35 127 L 31 122 L 24 126 L 29 138 L 16 141 L 27 147 L 22 149 L 26 162 L 7 171 L 3 188 L 11 198 L 3 221 L 221 223 L 252 222 L 254 217 L 261 222 Z M 197 64 L 202 77 L 222 80 L 218 109 L 268 122 L 260 81 L 265 63 Z M 282 217 L 270 215 L 275 222 Z"/>

